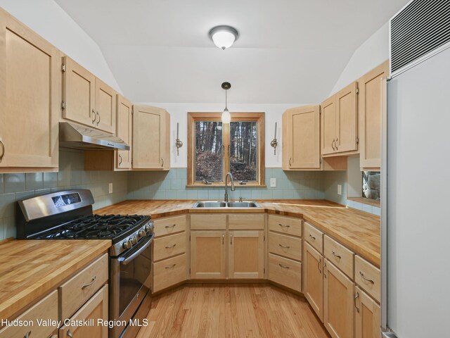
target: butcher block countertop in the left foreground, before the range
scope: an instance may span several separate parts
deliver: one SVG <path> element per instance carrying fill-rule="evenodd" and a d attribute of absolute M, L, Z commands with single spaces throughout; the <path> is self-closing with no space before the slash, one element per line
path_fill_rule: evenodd
<path fill-rule="evenodd" d="M 18 315 L 110 246 L 108 239 L 12 240 L 0 244 L 0 320 Z"/>

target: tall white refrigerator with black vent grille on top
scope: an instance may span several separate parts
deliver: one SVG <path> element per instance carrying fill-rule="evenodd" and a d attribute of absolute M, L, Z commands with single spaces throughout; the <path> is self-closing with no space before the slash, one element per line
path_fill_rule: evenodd
<path fill-rule="evenodd" d="M 390 20 L 383 113 L 383 337 L 450 337 L 450 1 L 414 0 Z"/>

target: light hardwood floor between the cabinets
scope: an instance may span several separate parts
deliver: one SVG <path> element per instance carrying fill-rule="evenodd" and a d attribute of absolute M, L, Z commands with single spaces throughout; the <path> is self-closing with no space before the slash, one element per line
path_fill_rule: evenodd
<path fill-rule="evenodd" d="M 153 299 L 137 338 L 328 338 L 307 301 L 269 284 L 189 284 Z"/>

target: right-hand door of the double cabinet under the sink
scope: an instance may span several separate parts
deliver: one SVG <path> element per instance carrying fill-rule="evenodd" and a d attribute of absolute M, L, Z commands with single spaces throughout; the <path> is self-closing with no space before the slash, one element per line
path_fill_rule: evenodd
<path fill-rule="evenodd" d="M 229 278 L 264 278 L 264 232 L 230 231 Z"/>

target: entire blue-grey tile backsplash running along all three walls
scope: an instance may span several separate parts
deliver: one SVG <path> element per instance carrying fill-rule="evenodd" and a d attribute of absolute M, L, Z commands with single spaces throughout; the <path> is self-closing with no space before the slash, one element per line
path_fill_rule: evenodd
<path fill-rule="evenodd" d="M 15 237 L 15 201 L 64 189 L 90 189 L 96 203 L 94 209 L 125 199 L 223 199 L 224 189 L 216 187 L 186 187 L 187 169 L 173 168 L 168 172 L 113 172 L 84 170 L 82 151 L 60 151 L 58 173 L 0 174 L 0 239 Z M 276 187 L 270 179 L 276 178 Z M 113 183 L 113 193 L 108 184 Z M 338 195 L 338 184 L 342 195 Z M 345 171 L 285 172 L 281 168 L 266 168 L 266 187 L 239 187 L 229 192 L 230 199 L 328 199 L 368 213 L 380 215 L 380 208 L 356 201 L 347 201 Z"/>

